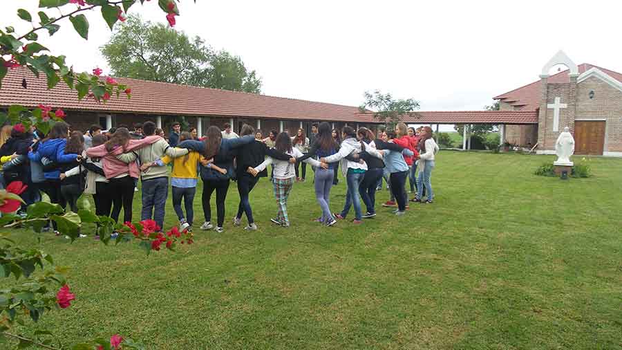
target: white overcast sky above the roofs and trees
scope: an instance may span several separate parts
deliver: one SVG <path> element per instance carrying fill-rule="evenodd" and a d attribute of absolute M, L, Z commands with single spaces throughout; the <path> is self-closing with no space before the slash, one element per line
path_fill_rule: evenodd
<path fill-rule="evenodd" d="M 19 24 L 20 7 L 36 17 L 38 0 L 1 2 L 2 27 Z M 196 2 L 181 1 L 176 28 L 241 56 L 267 95 L 358 106 L 364 91 L 379 89 L 424 111 L 480 110 L 538 80 L 559 49 L 576 64 L 622 71 L 620 1 Z M 166 23 L 156 0 L 137 10 Z M 105 72 L 99 46 L 110 30 L 99 12 L 87 17 L 88 41 L 67 22 L 40 42 L 76 71 Z"/>

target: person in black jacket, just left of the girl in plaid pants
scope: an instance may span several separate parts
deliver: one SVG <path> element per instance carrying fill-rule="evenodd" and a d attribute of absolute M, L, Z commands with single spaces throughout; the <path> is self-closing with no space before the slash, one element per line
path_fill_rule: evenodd
<path fill-rule="evenodd" d="M 240 136 L 254 135 L 254 128 L 250 125 L 243 125 L 240 132 Z M 265 156 L 270 156 L 279 160 L 290 160 L 295 162 L 295 159 L 290 157 L 276 149 L 268 148 L 261 140 L 255 140 L 247 145 L 243 145 L 238 148 L 238 155 L 236 156 L 236 172 L 238 177 L 238 193 L 240 194 L 240 204 L 238 205 L 238 213 L 234 218 L 234 225 L 240 225 L 242 221 L 242 214 L 246 214 L 248 219 L 248 225 L 245 230 L 257 230 L 257 225 L 253 219 L 253 212 L 249 202 L 249 193 L 253 190 L 259 177 L 266 177 L 267 171 L 264 169 L 258 176 L 252 176 L 247 172 L 249 167 L 254 168 L 257 165 L 263 163 Z"/>

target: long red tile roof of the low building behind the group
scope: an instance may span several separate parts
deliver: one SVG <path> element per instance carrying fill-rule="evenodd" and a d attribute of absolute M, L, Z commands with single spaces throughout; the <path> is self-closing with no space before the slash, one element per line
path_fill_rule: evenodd
<path fill-rule="evenodd" d="M 23 78 L 26 78 L 28 89 L 21 86 Z M 155 116 L 223 116 L 343 122 L 355 121 L 355 116 L 359 113 L 359 107 L 340 104 L 129 78 L 118 78 L 117 81 L 131 87 L 131 100 L 122 93 L 119 98 L 113 96 L 106 104 L 87 98 L 79 101 L 76 91 L 70 90 L 64 82 L 48 91 L 45 75 L 37 79 L 27 68 L 19 67 L 10 69 L 2 80 L 0 106 L 22 104 L 36 107 L 38 104 L 45 104 L 68 110 Z"/>

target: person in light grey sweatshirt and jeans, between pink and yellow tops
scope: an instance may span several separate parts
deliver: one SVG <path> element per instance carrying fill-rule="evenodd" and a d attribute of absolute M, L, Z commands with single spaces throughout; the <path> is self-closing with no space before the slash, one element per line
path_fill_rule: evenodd
<path fill-rule="evenodd" d="M 142 125 L 144 136 L 152 136 L 156 134 L 156 123 L 145 122 Z M 171 158 L 177 158 L 188 154 L 187 149 L 174 148 L 162 138 L 147 147 L 137 149 L 135 151 L 120 154 L 117 156 L 125 163 L 131 163 L 139 160 L 140 164 L 153 163 L 156 160 L 167 155 Z M 140 220 L 152 219 L 158 223 L 160 228 L 164 229 L 164 207 L 167 203 L 169 194 L 169 172 L 167 166 L 154 166 L 147 168 L 141 172 L 142 180 L 142 211 Z"/>

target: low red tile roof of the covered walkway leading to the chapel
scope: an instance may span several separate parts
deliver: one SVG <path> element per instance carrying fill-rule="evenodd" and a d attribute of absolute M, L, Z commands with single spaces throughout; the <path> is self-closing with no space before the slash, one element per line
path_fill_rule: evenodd
<path fill-rule="evenodd" d="M 373 121 L 373 114 L 359 114 L 359 122 Z M 421 111 L 402 118 L 411 124 L 538 124 L 538 111 Z"/>

